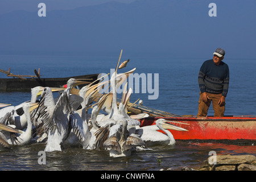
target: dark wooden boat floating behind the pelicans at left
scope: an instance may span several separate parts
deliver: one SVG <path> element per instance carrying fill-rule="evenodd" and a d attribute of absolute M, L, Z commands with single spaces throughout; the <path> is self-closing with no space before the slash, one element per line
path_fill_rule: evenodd
<path fill-rule="evenodd" d="M 30 92 L 35 86 L 60 87 L 67 84 L 69 78 L 86 78 L 88 82 L 97 80 L 98 74 L 80 75 L 64 78 L 42 78 L 42 77 L 16 77 L 0 78 L 0 91 L 2 92 Z"/>

